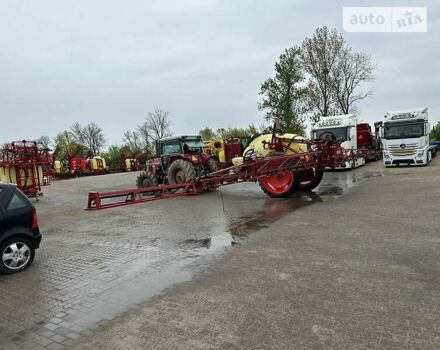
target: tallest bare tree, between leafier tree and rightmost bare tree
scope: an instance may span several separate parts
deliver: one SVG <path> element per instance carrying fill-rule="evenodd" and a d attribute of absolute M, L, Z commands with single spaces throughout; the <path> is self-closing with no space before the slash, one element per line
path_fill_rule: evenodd
<path fill-rule="evenodd" d="M 331 72 L 341 59 L 345 40 L 336 29 L 317 28 L 301 45 L 301 63 L 308 75 L 308 102 L 312 121 L 335 113 L 338 105 L 333 93 Z"/>

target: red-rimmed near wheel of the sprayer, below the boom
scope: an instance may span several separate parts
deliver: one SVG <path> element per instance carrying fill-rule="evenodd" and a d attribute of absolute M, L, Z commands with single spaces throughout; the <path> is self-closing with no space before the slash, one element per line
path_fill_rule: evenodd
<path fill-rule="evenodd" d="M 285 198 L 291 196 L 299 187 L 301 173 L 299 171 L 264 176 L 258 183 L 269 197 Z"/>

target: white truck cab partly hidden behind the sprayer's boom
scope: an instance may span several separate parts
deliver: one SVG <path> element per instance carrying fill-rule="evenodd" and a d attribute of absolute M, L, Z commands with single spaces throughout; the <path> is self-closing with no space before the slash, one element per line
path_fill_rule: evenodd
<path fill-rule="evenodd" d="M 320 139 L 328 137 L 333 141 L 341 141 L 341 147 L 345 149 L 357 150 L 358 147 L 363 147 L 358 145 L 359 140 L 363 140 L 358 136 L 358 126 L 359 119 L 353 114 L 335 115 L 331 117 L 322 117 L 315 125 L 312 127 L 312 139 Z M 364 124 L 359 124 L 364 125 Z M 365 140 L 366 141 L 366 140 Z M 358 157 L 356 160 L 346 162 L 345 167 L 347 168 L 357 168 L 365 164 L 364 157 Z"/>

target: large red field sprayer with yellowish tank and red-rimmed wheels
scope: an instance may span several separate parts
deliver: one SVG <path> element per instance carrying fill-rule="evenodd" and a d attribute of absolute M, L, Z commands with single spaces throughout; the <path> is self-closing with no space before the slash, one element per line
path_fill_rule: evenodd
<path fill-rule="evenodd" d="M 322 180 L 326 168 L 343 167 L 347 161 L 362 156 L 363 150 L 347 150 L 340 141 L 323 137 L 308 141 L 293 135 L 286 138 L 275 123 L 268 141 L 261 146 L 268 156 L 258 157 L 254 149 L 247 148 L 237 165 L 202 173 L 197 178 L 178 184 L 163 184 L 111 192 L 90 192 L 85 210 L 99 210 L 153 200 L 201 194 L 220 186 L 257 182 L 271 197 L 291 196 L 298 190 L 314 189 Z M 298 145 L 301 151 L 297 152 Z M 289 153 L 289 154 L 287 154 Z"/>

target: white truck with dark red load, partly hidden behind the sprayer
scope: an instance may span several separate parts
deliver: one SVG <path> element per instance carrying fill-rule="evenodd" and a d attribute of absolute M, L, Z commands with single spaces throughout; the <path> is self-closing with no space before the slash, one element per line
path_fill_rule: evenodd
<path fill-rule="evenodd" d="M 328 136 L 339 140 L 341 147 L 347 150 L 358 151 L 358 157 L 338 168 L 357 168 L 368 160 L 382 158 L 381 140 L 373 135 L 368 123 L 359 123 L 353 114 L 322 117 L 312 128 L 312 138 L 318 139 Z"/>

